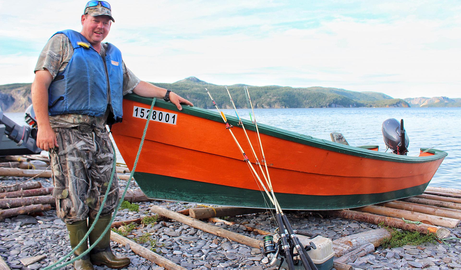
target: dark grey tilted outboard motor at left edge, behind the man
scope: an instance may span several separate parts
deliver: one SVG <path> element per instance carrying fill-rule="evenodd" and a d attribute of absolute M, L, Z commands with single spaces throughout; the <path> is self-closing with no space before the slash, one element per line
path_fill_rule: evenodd
<path fill-rule="evenodd" d="M 30 113 L 31 114 L 31 113 Z M 34 115 L 35 117 L 35 115 Z M 32 153 L 40 153 L 41 149 L 37 147 L 37 129 L 29 126 L 21 126 L 14 123 L 10 118 L 3 115 L 3 110 L 0 107 L 0 124 L 5 125 L 5 135 L 18 146 L 23 146 L 32 151 Z"/>

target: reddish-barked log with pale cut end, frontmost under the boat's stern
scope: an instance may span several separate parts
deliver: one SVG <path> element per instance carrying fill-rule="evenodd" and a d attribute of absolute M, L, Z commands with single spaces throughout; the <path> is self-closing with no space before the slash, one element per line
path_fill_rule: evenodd
<path fill-rule="evenodd" d="M 450 234 L 450 231 L 446 228 L 437 227 L 429 224 L 411 224 L 405 223 L 402 219 L 395 217 L 384 217 L 352 210 L 329 210 L 320 211 L 329 216 L 342 217 L 347 219 L 353 219 L 361 222 L 367 222 L 378 225 L 384 223 L 384 226 L 402 229 L 410 232 L 419 232 L 421 234 L 433 233 L 438 238 L 445 238 Z"/>

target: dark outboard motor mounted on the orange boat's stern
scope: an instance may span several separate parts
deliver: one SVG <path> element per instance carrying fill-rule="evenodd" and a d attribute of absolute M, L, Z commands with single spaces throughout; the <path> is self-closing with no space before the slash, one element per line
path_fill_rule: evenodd
<path fill-rule="evenodd" d="M 387 119 L 383 122 L 384 143 L 392 152 L 397 155 L 406 155 L 408 153 L 408 144 L 410 140 L 403 128 L 403 119 L 400 123 L 395 118 Z"/>

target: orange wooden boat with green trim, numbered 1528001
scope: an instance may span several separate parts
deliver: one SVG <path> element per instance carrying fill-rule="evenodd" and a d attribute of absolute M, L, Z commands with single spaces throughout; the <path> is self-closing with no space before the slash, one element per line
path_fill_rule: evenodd
<path fill-rule="evenodd" d="M 151 103 L 150 98 L 126 95 L 124 121 L 112 127 L 130 169 Z M 189 106 L 178 111 L 163 100 L 155 100 L 154 110 L 134 174 L 146 196 L 267 207 L 265 194 L 217 112 Z M 244 150 L 249 149 L 236 117 L 227 119 Z M 246 120 L 243 124 L 256 144 L 254 125 Z M 264 124 L 258 127 L 273 189 L 284 209 L 344 209 L 419 195 L 447 155 L 426 148 L 417 157 L 396 155 L 373 151 L 373 146 L 352 147 Z"/>

